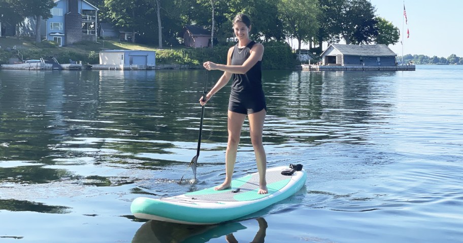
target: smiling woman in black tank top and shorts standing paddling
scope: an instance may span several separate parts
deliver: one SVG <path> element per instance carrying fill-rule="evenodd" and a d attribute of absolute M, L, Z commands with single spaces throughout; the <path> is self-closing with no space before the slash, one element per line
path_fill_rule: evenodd
<path fill-rule="evenodd" d="M 240 142 L 241 128 L 248 116 L 251 143 L 254 148 L 257 170 L 259 172 L 259 194 L 267 194 L 266 153 L 262 145 L 263 122 L 267 114 L 266 100 L 262 89 L 261 61 L 263 46 L 249 39 L 251 20 L 247 15 L 239 14 L 233 20 L 233 29 L 238 38 L 238 44 L 228 50 L 227 64 L 216 64 L 207 61 L 203 66 L 207 70 L 220 70 L 223 75 L 215 86 L 200 99 L 202 106 L 225 86 L 230 78 L 231 93 L 228 101 L 228 143 L 225 154 L 225 181 L 215 190 L 228 189 L 231 186 L 231 177 L 235 167 L 238 144 Z"/>

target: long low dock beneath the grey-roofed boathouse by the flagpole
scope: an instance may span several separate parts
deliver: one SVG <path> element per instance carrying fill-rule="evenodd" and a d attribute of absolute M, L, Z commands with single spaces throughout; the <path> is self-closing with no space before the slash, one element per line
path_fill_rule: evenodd
<path fill-rule="evenodd" d="M 415 65 L 364 66 L 302 64 L 303 71 L 415 71 Z"/>

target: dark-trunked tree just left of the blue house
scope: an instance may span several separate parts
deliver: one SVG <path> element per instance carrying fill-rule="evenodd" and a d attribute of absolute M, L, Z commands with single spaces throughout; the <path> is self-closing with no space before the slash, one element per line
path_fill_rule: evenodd
<path fill-rule="evenodd" d="M 21 0 L 24 5 L 24 16 L 32 17 L 36 20 L 36 42 L 41 42 L 41 20 L 53 17 L 51 9 L 56 6 L 53 0 Z"/>

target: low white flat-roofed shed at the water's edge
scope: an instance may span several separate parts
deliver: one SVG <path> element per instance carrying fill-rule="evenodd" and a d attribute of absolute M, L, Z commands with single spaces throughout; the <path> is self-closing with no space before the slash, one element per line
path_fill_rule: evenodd
<path fill-rule="evenodd" d="M 156 65 L 155 51 L 108 50 L 100 51 L 102 65 Z"/>

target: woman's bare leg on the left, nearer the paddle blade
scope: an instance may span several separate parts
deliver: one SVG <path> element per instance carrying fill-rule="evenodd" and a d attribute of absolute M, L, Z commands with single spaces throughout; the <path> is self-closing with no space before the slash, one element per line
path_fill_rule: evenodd
<path fill-rule="evenodd" d="M 225 153 L 225 181 L 220 186 L 215 187 L 215 190 L 224 190 L 231 186 L 231 177 L 235 169 L 236 154 L 238 144 L 240 143 L 241 128 L 243 127 L 245 118 L 245 114 L 228 111 L 228 143 Z"/>

